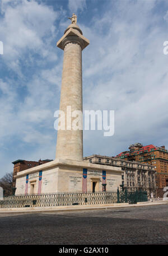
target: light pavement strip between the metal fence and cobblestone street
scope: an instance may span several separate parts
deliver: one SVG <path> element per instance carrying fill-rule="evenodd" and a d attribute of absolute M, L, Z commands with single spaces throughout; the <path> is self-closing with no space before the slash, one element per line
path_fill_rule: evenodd
<path fill-rule="evenodd" d="M 94 204 L 87 206 L 53 206 L 53 207 L 27 207 L 27 208 L 0 208 L 1 213 L 40 213 L 40 212 L 63 212 L 63 211 L 87 211 L 87 210 L 107 210 L 109 208 L 130 208 L 144 206 L 158 206 L 168 204 L 168 202 L 138 202 L 137 204 L 113 203 L 113 204 Z"/>

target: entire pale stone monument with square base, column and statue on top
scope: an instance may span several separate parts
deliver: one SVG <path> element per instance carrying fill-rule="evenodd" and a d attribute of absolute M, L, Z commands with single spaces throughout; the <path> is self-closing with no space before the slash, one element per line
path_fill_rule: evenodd
<path fill-rule="evenodd" d="M 66 120 L 69 107 L 82 113 L 82 50 L 90 44 L 76 24 L 77 16 L 73 13 L 70 19 L 57 43 L 64 51 L 59 110 Z M 66 123 L 57 133 L 55 160 L 20 171 L 15 178 L 15 194 L 108 191 L 122 184 L 122 169 L 83 161 L 83 131 Z"/>

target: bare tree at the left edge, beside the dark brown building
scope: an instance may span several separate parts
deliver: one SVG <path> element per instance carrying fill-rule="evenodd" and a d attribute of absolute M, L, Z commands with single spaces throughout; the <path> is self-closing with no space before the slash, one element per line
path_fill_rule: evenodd
<path fill-rule="evenodd" d="M 0 187 L 4 190 L 4 196 L 12 195 L 13 173 L 7 173 L 0 179 Z"/>

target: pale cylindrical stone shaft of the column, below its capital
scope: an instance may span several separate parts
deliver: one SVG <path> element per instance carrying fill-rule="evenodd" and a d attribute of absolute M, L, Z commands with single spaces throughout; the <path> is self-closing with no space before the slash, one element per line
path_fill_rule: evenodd
<path fill-rule="evenodd" d="M 60 110 L 65 114 L 65 131 L 57 134 L 56 157 L 83 161 L 83 131 L 67 130 L 67 106 L 82 111 L 82 49 L 80 44 L 68 42 L 64 46 Z M 75 118 L 72 117 L 72 122 Z"/>

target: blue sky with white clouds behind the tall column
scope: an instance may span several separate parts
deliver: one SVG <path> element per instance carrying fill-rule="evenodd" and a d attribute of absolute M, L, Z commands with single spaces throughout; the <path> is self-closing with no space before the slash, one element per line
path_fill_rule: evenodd
<path fill-rule="evenodd" d="M 168 148 L 168 1 L 0 0 L 0 178 L 12 161 L 55 158 L 63 51 L 78 16 L 83 109 L 115 110 L 114 136 L 84 131 L 84 156 L 115 156 L 135 142 Z"/>

